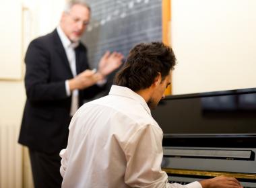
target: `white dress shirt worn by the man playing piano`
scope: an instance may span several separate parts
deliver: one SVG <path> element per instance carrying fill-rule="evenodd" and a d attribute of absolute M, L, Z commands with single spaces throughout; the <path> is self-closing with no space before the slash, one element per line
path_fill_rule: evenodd
<path fill-rule="evenodd" d="M 163 132 L 146 101 L 127 87 L 84 104 L 69 125 L 61 150 L 63 187 L 201 188 L 167 183 L 161 170 Z"/>

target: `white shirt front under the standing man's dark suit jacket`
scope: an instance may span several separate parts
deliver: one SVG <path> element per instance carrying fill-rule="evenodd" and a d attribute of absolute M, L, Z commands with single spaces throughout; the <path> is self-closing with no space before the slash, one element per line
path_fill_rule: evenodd
<path fill-rule="evenodd" d="M 69 38 L 67 38 L 63 30 L 61 30 L 60 26 L 57 27 L 57 33 L 65 49 L 67 60 L 69 61 L 69 66 L 71 68 L 73 77 L 75 77 L 77 75 L 76 65 L 75 65 L 75 48 L 78 46 L 79 42 L 72 43 L 69 40 Z M 68 81 L 65 81 L 65 87 L 66 87 L 67 96 L 70 96 L 71 92 L 69 89 Z M 75 89 L 72 91 L 70 115 L 72 116 L 75 113 L 75 111 L 77 111 L 77 109 L 78 109 L 78 89 Z"/>

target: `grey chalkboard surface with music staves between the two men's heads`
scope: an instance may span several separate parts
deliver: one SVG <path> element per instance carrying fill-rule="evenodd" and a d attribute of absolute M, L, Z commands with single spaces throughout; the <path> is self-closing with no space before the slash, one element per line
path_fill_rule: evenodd
<path fill-rule="evenodd" d="M 88 0 L 92 19 L 82 38 L 92 68 L 106 50 L 125 56 L 139 42 L 162 40 L 161 0 Z"/>

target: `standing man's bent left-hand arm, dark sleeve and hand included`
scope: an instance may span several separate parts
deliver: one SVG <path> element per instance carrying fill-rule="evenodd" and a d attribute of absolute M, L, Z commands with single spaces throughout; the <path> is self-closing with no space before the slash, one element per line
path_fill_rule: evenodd
<path fill-rule="evenodd" d="M 32 41 L 28 46 L 25 58 L 25 85 L 27 97 L 31 101 L 53 101 L 69 97 L 66 91 L 65 78 L 60 81 L 52 81 L 55 73 L 51 71 L 63 71 L 63 67 L 59 67 L 59 70 L 51 70 L 51 64 L 56 62 L 51 62 L 52 59 L 48 50 L 44 42 L 38 39 Z M 102 75 L 86 70 L 68 80 L 69 90 L 86 89 L 100 79 L 102 79 Z"/>

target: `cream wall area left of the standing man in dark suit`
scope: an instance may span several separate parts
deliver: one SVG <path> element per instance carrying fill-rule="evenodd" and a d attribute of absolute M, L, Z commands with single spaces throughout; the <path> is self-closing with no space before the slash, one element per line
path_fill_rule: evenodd
<path fill-rule="evenodd" d="M 28 152 L 17 144 L 26 101 L 24 52 L 33 38 L 57 26 L 64 3 L 0 0 L 0 187 L 33 187 Z"/>

